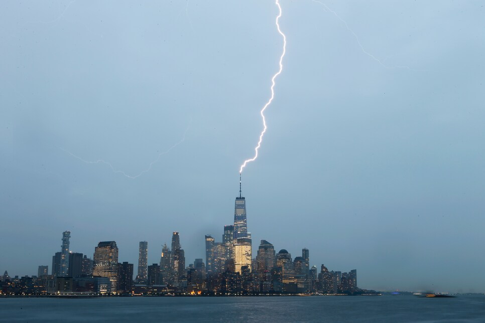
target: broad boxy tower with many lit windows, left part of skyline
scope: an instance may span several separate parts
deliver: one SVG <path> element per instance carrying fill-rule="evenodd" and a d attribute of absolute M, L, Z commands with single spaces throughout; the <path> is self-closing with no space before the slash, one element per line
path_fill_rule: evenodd
<path fill-rule="evenodd" d="M 93 276 L 108 277 L 109 292 L 116 292 L 118 276 L 118 247 L 114 241 L 102 241 L 94 248 Z"/>

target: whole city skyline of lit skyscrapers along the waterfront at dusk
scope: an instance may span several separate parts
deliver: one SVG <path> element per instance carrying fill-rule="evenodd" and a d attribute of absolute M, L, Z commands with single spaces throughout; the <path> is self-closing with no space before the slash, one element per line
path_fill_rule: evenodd
<path fill-rule="evenodd" d="M 114 241 L 102 241 L 94 248 L 93 258 L 69 249 L 70 231 L 62 234 L 61 251 L 52 257 L 51 273 L 39 266 L 37 276 L 1 276 L 2 295 L 49 294 L 358 294 L 357 271 L 329 271 L 323 264 L 318 272 L 310 268 L 310 252 L 303 248 L 294 259 L 273 244 L 261 240 L 256 258 L 252 258 L 252 238 L 248 232 L 246 199 L 235 199 L 234 224 L 224 226 L 222 242 L 205 236 L 205 263 L 195 259 L 185 265 L 185 253 L 178 232 L 172 244 L 162 247 L 160 263 L 148 264 L 148 242 L 139 246 L 138 274 L 134 265 L 118 262 Z"/>

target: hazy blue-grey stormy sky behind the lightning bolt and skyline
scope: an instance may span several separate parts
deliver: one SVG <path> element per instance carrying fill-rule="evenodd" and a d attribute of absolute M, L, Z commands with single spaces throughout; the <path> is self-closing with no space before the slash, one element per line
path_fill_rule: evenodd
<path fill-rule="evenodd" d="M 281 0 L 283 73 L 243 172 L 254 256 L 266 239 L 362 288 L 485 292 L 484 5 Z M 0 2 L 0 270 L 50 270 L 65 230 L 135 268 L 139 241 L 158 263 L 179 231 L 205 261 L 262 130 L 277 14 Z"/>

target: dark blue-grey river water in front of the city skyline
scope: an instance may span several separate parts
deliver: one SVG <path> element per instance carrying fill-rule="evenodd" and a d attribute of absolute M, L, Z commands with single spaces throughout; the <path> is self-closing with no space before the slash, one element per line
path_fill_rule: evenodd
<path fill-rule="evenodd" d="M 485 322 L 485 296 L 0 298 L 0 321 Z"/>

